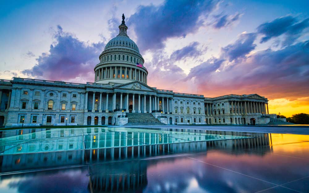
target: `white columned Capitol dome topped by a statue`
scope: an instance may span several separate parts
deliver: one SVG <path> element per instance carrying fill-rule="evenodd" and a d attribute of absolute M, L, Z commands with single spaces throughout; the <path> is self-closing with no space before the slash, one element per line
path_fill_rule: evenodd
<path fill-rule="evenodd" d="M 125 16 L 119 25 L 119 34 L 111 39 L 100 54 L 95 66 L 95 83 L 125 84 L 139 81 L 147 84 L 148 71 L 138 46 L 127 35 Z"/>

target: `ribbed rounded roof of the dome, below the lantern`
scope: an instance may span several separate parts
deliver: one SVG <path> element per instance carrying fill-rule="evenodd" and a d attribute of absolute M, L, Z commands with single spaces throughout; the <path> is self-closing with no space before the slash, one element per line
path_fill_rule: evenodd
<path fill-rule="evenodd" d="M 135 42 L 127 35 L 118 35 L 106 44 L 104 51 L 110 48 L 127 48 L 139 53 L 139 49 Z"/>

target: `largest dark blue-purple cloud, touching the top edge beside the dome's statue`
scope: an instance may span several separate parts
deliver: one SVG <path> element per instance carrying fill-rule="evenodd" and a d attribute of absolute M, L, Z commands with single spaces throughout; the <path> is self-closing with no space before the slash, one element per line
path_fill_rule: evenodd
<path fill-rule="evenodd" d="M 173 1 L 167 0 L 160 6 L 139 6 L 128 23 L 134 26 L 141 51 L 163 48 L 163 42 L 171 37 L 184 37 L 201 25 L 201 15 L 207 16 L 216 1 Z"/>

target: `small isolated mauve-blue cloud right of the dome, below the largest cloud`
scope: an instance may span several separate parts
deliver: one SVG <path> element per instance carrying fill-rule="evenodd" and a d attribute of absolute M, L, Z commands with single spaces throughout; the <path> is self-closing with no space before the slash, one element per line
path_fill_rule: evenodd
<path fill-rule="evenodd" d="M 202 51 L 197 49 L 198 42 L 192 42 L 188 46 L 185 46 L 179 50 L 176 50 L 171 54 L 171 60 L 179 61 L 187 57 L 198 57 L 202 54 Z"/>

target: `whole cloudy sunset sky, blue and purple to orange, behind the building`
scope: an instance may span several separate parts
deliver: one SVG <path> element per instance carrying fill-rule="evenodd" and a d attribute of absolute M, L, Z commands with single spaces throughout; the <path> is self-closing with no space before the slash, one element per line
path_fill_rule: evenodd
<path fill-rule="evenodd" d="M 2 1 L 0 78 L 94 82 L 124 13 L 148 85 L 257 93 L 269 113 L 309 113 L 309 1 L 89 2 Z"/>

